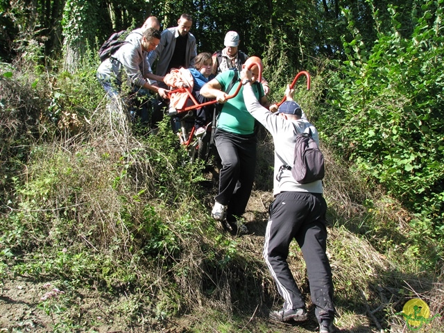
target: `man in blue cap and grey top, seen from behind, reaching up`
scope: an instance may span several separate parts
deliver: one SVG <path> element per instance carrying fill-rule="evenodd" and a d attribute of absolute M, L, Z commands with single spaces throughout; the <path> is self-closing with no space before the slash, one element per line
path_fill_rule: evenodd
<path fill-rule="evenodd" d="M 280 311 L 271 311 L 270 318 L 283 322 L 307 319 L 305 301 L 287 263 L 290 243 L 296 239 L 307 266 L 311 302 L 315 306 L 319 332 L 334 332 L 332 271 L 325 253 L 327 204 L 323 198 L 322 182 L 316 180 L 300 184 L 293 178 L 291 170 L 285 168 L 293 165 L 296 135 L 310 128 L 314 140 L 319 144 L 318 132 L 307 121 L 298 103 L 293 101 L 294 90 L 289 86 L 285 92 L 287 101 L 280 105 L 278 114 L 273 114 L 257 101 L 251 88 L 251 72 L 242 71 L 241 78 L 248 112 L 271 133 L 275 144 L 275 200 L 269 208 L 263 255 L 284 298 L 284 305 Z M 271 105 L 270 110 L 276 109 L 276 105 Z"/>

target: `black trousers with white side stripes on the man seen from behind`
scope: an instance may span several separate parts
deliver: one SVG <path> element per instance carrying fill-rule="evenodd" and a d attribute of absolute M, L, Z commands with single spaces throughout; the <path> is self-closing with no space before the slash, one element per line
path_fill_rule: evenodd
<path fill-rule="evenodd" d="M 322 194 L 278 194 L 270 206 L 263 253 L 284 298 L 284 309 L 305 308 L 304 298 L 287 263 L 290 243 L 296 239 L 307 266 L 311 302 L 315 305 L 319 323 L 334 318 L 332 270 L 325 254 L 326 212 L 327 204 Z"/>

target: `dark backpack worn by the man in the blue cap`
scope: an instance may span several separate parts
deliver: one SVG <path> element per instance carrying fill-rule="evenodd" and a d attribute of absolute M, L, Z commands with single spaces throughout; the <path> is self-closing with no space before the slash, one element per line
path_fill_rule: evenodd
<path fill-rule="evenodd" d="M 324 155 L 314 141 L 311 129 L 308 130 L 296 135 L 293 167 L 283 166 L 291 170 L 291 175 L 300 184 L 322 180 L 325 174 Z"/>

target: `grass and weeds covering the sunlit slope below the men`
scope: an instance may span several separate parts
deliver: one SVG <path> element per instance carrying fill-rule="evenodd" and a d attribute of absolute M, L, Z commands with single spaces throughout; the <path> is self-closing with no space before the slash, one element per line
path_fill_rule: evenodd
<path fill-rule="evenodd" d="M 103 94 L 87 76 L 80 76 L 85 90 L 74 74 L 63 74 L 52 87 L 40 76 L 33 87 L 35 77 L 8 70 L 14 76 L 0 78 L 0 313 L 6 314 L 0 327 L 317 330 L 309 298 L 307 323 L 267 319 L 282 300 L 262 260 L 273 200 L 273 145 L 266 133 L 259 135 L 255 189 L 244 215 L 252 233 L 232 237 L 209 216 L 217 169 L 189 164 L 167 119 L 157 134 L 135 133 L 121 110 L 109 112 L 96 98 Z M 352 173 L 334 147 L 322 148 L 340 332 L 408 332 L 400 312 L 410 298 L 443 314 L 443 272 L 431 264 L 433 244 L 427 238 L 413 243 L 411 214 Z M 296 244 L 289 264 L 307 293 Z M 421 330 L 443 332 L 442 317 Z"/>

